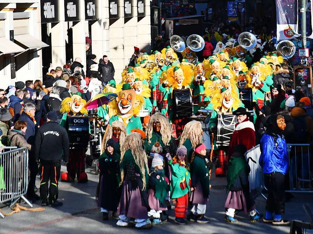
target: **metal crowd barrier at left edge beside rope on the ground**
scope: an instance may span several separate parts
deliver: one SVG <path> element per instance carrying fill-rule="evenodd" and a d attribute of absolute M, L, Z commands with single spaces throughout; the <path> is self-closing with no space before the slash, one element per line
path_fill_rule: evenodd
<path fill-rule="evenodd" d="M 22 198 L 30 207 L 33 207 L 24 197 L 27 187 L 28 149 L 5 147 L 4 152 L 0 153 L 0 205 L 11 202 L 10 207 L 12 207 Z M 0 216 L 4 218 L 1 212 Z"/>

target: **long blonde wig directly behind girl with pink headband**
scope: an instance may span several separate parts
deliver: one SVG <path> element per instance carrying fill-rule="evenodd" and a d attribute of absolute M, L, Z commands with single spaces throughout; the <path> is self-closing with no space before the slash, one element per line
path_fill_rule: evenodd
<path fill-rule="evenodd" d="M 187 123 L 180 136 L 179 146 L 182 146 L 184 142 L 189 139 L 191 141 L 192 147 L 196 147 L 198 144 L 202 143 L 202 125 L 201 122 L 192 120 Z"/>

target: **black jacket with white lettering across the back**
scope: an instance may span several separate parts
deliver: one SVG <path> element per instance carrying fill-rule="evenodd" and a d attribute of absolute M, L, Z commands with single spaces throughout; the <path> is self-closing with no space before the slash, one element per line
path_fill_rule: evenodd
<path fill-rule="evenodd" d="M 57 122 L 47 122 L 36 134 L 35 159 L 69 161 L 69 137 L 64 127 Z"/>

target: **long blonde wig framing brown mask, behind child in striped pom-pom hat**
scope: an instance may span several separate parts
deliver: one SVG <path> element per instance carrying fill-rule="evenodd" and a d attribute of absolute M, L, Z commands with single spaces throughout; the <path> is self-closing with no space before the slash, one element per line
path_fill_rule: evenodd
<path fill-rule="evenodd" d="M 156 121 L 160 122 L 161 124 L 160 133 L 162 135 L 162 142 L 164 143 L 164 145 L 169 145 L 172 137 L 172 126 L 170 122 L 168 122 L 167 117 L 165 117 L 165 115 L 163 115 L 161 112 L 156 112 L 154 115 L 150 117 L 148 127 L 146 128 L 146 136 L 148 139 L 148 143 L 151 144 L 153 123 L 155 123 Z"/>

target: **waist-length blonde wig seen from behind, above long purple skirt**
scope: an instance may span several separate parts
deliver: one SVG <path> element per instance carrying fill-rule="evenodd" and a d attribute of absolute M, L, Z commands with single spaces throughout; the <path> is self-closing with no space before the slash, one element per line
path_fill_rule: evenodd
<path fill-rule="evenodd" d="M 138 132 L 132 132 L 127 135 L 125 141 L 121 147 L 121 162 L 123 161 L 124 154 L 127 150 L 131 150 L 131 154 L 134 157 L 136 165 L 140 168 L 142 174 L 142 190 L 146 189 L 146 170 L 145 167 L 148 168 L 148 160 L 146 156 L 146 152 L 142 147 L 141 143 L 141 135 Z M 121 171 L 121 183 L 124 180 L 124 170 Z"/>

